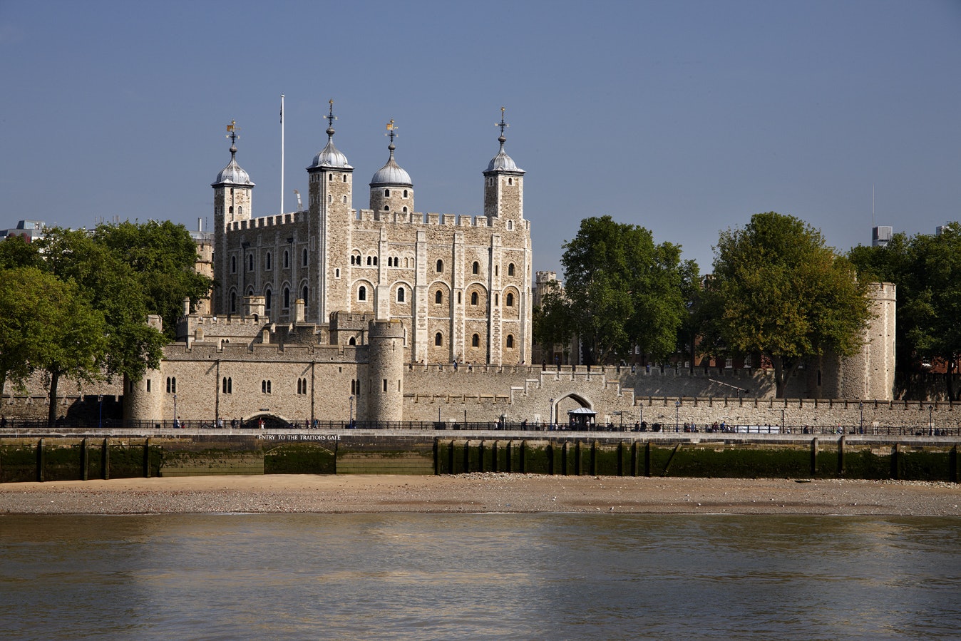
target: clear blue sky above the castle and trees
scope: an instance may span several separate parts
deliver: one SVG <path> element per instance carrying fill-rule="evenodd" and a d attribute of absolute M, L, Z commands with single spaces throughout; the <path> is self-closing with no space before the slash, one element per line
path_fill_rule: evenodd
<path fill-rule="evenodd" d="M 961 2 L 0 0 L 0 227 L 212 223 L 230 160 L 255 215 L 306 191 L 324 145 L 354 206 L 387 158 L 416 209 L 482 210 L 498 150 L 525 169 L 534 269 L 587 216 L 650 229 L 710 271 L 718 233 L 794 214 L 847 251 L 875 220 L 961 218 Z"/>

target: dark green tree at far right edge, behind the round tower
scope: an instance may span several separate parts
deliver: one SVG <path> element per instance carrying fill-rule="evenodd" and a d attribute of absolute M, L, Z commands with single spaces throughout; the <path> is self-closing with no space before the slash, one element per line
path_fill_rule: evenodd
<path fill-rule="evenodd" d="M 922 360 L 943 362 L 948 398 L 961 400 L 954 385 L 961 365 L 961 224 L 937 235 L 895 234 L 886 247 L 851 249 L 850 259 L 863 278 L 898 285 L 899 371 L 910 378 Z"/>

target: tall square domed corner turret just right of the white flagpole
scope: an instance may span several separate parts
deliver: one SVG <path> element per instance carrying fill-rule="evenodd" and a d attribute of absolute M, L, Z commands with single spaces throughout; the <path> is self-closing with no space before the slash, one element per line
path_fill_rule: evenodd
<path fill-rule="evenodd" d="M 307 316 L 326 323 L 332 311 L 350 309 L 351 279 L 347 272 L 351 253 L 354 167 L 333 146 L 333 100 L 327 115 L 327 145 L 307 168 L 309 229 L 318 246 L 308 261 L 308 281 L 316 294 L 308 298 Z"/>

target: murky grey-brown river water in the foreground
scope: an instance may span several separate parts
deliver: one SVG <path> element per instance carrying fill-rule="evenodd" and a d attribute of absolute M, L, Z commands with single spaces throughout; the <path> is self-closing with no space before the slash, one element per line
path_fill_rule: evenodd
<path fill-rule="evenodd" d="M 961 635 L 961 519 L 0 516 L 15 639 Z"/>

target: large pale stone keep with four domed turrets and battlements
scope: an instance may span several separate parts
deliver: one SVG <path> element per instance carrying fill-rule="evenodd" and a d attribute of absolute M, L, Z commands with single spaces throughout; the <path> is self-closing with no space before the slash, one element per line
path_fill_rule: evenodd
<path fill-rule="evenodd" d="M 327 118 L 327 144 L 307 167 L 306 210 L 256 215 L 255 185 L 232 140 L 231 160 L 211 185 L 212 313 L 235 316 L 245 299 L 262 298 L 261 315 L 271 322 L 333 324 L 337 339 L 357 314 L 399 321 L 408 362 L 530 361 L 525 172 L 505 151 L 503 111 L 500 150 L 482 172 L 477 216 L 415 210 L 413 181 L 394 157 L 392 121 L 368 208 L 354 209 L 355 172 L 333 142 L 333 101 Z M 360 335 L 346 340 L 363 342 Z"/>

